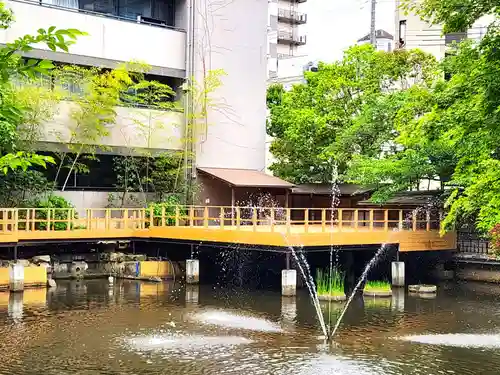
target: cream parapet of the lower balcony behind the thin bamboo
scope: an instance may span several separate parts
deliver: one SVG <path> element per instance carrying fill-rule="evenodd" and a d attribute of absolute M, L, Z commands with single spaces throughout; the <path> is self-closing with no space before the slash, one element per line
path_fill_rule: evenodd
<path fill-rule="evenodd" d="M 41 143 L 70 142 L 72 102 L 61 102 L 57 115 L 45 125 Z M 148 108 L 116 108 L 116 123 L 108 126 L 108 136 L 99 144 L 114 148 L 181 150 L 183 113 Z"/>

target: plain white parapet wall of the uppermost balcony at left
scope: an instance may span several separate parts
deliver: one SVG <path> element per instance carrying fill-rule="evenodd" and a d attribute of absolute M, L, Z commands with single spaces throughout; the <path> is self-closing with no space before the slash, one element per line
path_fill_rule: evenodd
<path fill-rule="evenodd" d="M 6 1 L 16 22 L 0 31 L 0 43 L 12 42 L 39 28 L 52 25 L 78 29 L 88 36 L 78 38 L 71 54 L 118 60 L 137 60 L 150 65 L 184 70 L 186 66 L 186 33 L 180 29 L 153 27 L 100 17 L 77 10 L 49 8 L 38 3 Z M 37 46 L 48 50 L 45 45 Z"/>

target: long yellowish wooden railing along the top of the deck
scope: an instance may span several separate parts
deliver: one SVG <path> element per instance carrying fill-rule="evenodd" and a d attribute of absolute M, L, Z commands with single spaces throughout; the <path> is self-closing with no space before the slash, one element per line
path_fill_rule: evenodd
<path fill-rule="evenodd" d="M 79 214 L 77 213 L 79 212 Z M 146 230 L 197 227 L 253 231 L 439 230 L 439 214 L 420 210 L 176 206 L 145 208 L 0 209 L 0 233 L 17 231 Z"/>

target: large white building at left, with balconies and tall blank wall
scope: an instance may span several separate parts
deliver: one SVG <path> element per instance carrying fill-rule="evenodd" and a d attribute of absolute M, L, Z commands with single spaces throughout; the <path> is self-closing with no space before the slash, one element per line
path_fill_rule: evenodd
<path fill-rule="evenodd" d="M 29 57 L 104 68 L 142 61 L 152 67 L 148 78 L 168 83 L 178 96 L 184 95 L 186 78 L 203 82 L 208 71 L 222 69 L 225 74 L 222 86 L 212 94 L 208 125 L 194 145 L 196 167 L 264 170 L 266 0 L 6 0 L 6 4 L 15 14 L 15 23 L 0 31 L 0 43 L 50 26 L 88 33 L 71 46 L 69 53 L 40 46 Z M 250 14 L 252 17 L 248 17 Z M 288 43 L 296 46 L 298 42 L 291 39 Z M 182 150 L 189 110 L 157 113 L 163 130 L 150 129 L 151 142 L 140 136 L 132 109 L 118 108 L 116 124 L 102 140 L 108 148 L 103 160 L 130 147 L 155 152 Z M 56 128 L 64 135 L 68 121 L 68 111 L 62 108 L 47 128 Z M 53 133 L 47 131 L 43 143 L 49 149 L 64 147 L 67 139 L 55 138 Z M 80 186 L 75 177 L 65 194 L 77 205 L 103 207 L 107 193 L 97 185 L 105 177 L 103 172 L 86 179 L 98 181 L 95 186 Z"/>

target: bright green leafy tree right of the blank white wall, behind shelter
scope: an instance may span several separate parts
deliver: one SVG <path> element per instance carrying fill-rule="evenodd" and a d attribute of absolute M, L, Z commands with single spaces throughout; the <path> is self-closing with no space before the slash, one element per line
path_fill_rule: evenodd
<path fill-rule="evenodd" d="M 350 48 L 341 61 L 320 64 L 288 92 L 271 86 L 271 170 L 295 183 L 326 182 L 332 162 L 343 174 L 353 155 L 378 155 L 395 138 L 388 112 L 404 100 L 392 93 L 426 87 L 435 76 L 435 59 L 421 51 L 376 52 L 365 45 Z"/>

